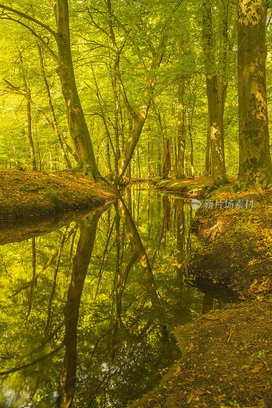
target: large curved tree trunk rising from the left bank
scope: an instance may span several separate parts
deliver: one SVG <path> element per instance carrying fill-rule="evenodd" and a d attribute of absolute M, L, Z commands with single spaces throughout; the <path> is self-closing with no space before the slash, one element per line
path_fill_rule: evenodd
<path fill-rule="evenodd" d="M 67 109 L 69 131 L 84 173 L 95 181 L 104 180 L 95 161 L 94 149 L 78 96 L 71 55 L 68 0 L 52 0 L 57 22 L 58 75 Z"/>

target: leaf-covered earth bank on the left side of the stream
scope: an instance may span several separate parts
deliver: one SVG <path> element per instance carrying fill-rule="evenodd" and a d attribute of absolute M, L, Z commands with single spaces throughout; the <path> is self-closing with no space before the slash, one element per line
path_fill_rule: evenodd
<path fill-rule="evenodd" d="M 95 209 L 119 192 L 70 173 L 0 171 L 0 219 Z"/>

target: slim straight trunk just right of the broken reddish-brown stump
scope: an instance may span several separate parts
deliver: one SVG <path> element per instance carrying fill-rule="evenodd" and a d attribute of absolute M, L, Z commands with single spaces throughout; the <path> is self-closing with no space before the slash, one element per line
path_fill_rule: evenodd
<path fill-rule="evenodd" d="M 183 44 L 182 40 L 179 43 L 179 62 L 183 59 Z M 181 75 L 181 74 L 180 74 Z M 184 78 L 181 77 L 178 81 L 178 135 L 177 135 L 177 163 L 176 163 L 176 178 L 184 179 L 184 154 L 185 154 L 185 124 L 184 124 Z"/>

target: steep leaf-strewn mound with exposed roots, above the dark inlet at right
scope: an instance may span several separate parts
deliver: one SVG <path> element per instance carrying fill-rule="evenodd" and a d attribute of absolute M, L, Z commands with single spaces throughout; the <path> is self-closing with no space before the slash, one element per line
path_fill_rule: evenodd
<path fill-rule="evenodd" d="M 271 291 L 272 193 L 223 190 L 209 198 L 213 208 L 203 208 L 203 200 L 193 223 L 193 232 L 206 245 L 188 263 L 190 281 L 211 296 L 222 287 L 239 297 Z M 230 199 L 234 208 L 225 209 Z M 216 200 L 223 202 L 222 209 L 214 208 Z M 243 206 L 235 208 L 238 200 Z"/>

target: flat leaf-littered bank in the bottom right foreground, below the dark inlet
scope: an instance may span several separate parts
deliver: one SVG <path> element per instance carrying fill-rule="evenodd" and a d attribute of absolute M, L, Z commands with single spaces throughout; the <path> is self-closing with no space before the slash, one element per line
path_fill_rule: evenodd
<path fill-rule="evenodd" d="M 272 298 L 214 310 L 176 329 L 180 361 L 129 408 L 272 406 Z"/>

